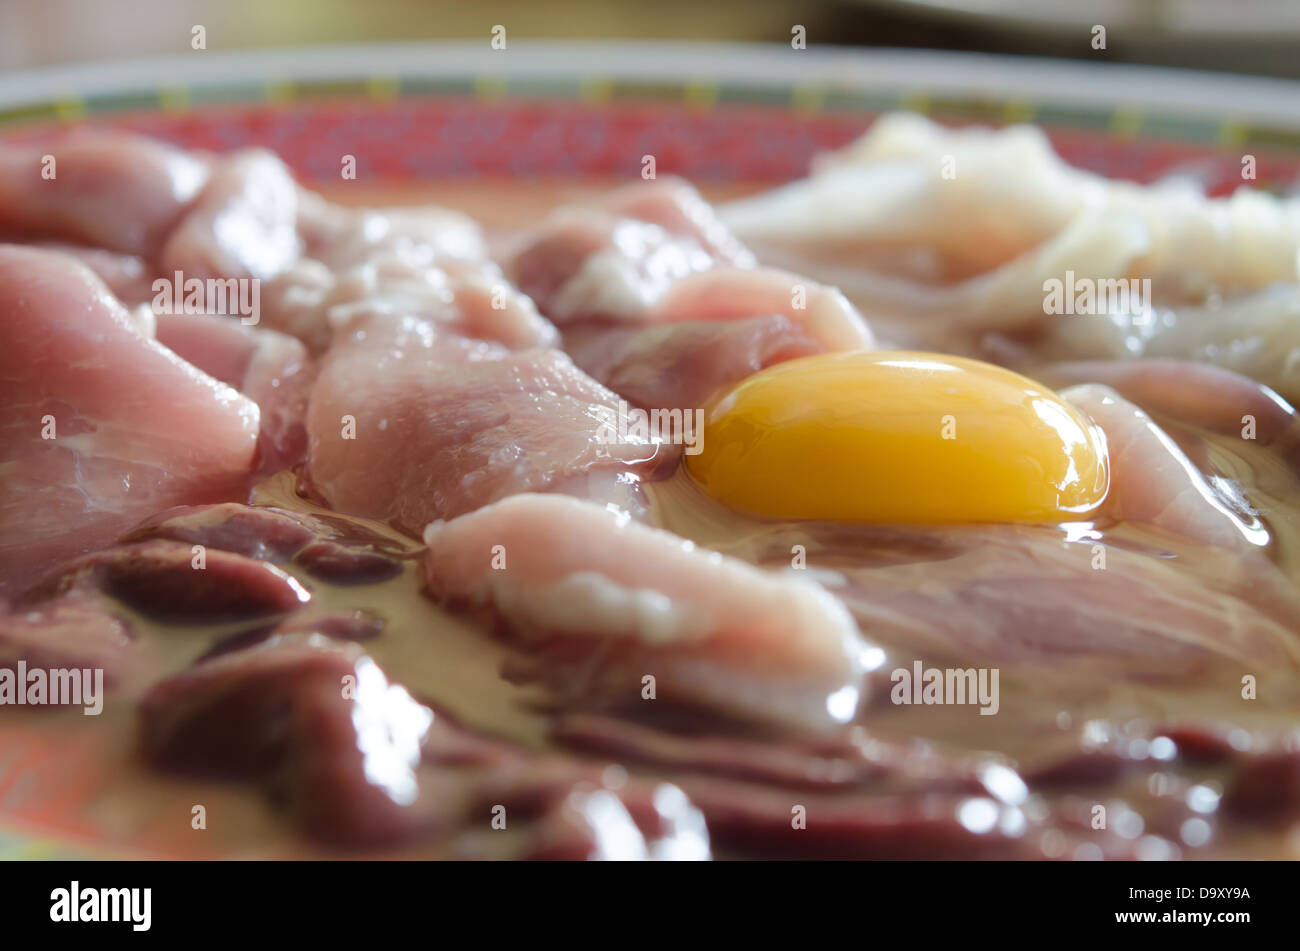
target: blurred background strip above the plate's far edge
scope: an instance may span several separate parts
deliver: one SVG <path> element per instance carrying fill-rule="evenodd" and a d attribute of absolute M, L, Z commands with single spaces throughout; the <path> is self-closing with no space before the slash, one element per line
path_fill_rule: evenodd
<path fill-rule="evenodd" d="M 420 39 L 702 39 L 982 49 L 1300 77 L 1300 0 L 0 0 L 0 69 Z M 1106 48 L 1093 49 L 1093 27 Z"/>

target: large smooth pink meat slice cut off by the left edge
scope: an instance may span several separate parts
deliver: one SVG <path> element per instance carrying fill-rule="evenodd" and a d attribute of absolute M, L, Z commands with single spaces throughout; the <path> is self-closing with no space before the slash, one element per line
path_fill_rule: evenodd
<path fill-rule="evenodd" d="M 0 587 L 161 508 L 247 491 L 256 404 L 143 336 L 86 268 L 0 247 Z"/>

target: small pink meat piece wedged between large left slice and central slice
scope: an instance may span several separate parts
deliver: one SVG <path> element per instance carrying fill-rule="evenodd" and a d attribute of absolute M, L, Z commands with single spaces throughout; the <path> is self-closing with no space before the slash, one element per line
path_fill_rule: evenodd
<path fill-rule="evenodd" d="M 307 452 L 307 398 L 313 381 L 307 348 L 292 336 L 233 317 L 159 317 L 159 343 L 229 383 L 261 411 L 260 468 L 280 472 Z"/>

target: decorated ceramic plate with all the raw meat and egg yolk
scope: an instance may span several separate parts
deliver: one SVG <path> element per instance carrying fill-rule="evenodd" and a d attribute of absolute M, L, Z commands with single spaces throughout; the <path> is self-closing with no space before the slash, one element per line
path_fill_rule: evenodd
<path fill-rule="evenodd" d="M 1294 857 L 1297 170 L 976 55 L 0 78 L 0 852 Z"/>

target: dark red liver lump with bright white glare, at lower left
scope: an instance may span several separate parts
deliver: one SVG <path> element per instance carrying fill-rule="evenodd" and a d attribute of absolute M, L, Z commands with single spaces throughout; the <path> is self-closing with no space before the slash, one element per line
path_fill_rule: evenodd
<path fill-rule="evenodd" d="M 256 781 L 341 846 L 399 842 L 458 815 L 460 794 L 432 792 L 420 769 L 432 721 L 355 644 L 306 635 L 200 663 L 140 703 L 150 763 Z"/>

